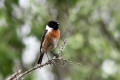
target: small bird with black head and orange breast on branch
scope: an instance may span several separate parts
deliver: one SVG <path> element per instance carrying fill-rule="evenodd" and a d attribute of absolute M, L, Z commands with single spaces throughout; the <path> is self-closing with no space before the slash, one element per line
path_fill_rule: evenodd
<path fill-rule="evenodd" d="M 45 53 L 48 51 L 52 52 L 57 47 L 58 41 L 60 39 L 60 30 L 59 30 L 59 22 L 51 20 L 47 23 L 46 29 L 44 30 L 41 37 L 40 44 L 40 57 L 38 59 L 38 64 L 42 63 L 42 59 Z M 58 58 L 59 55 L 53 53 L 53 55 Z"/>

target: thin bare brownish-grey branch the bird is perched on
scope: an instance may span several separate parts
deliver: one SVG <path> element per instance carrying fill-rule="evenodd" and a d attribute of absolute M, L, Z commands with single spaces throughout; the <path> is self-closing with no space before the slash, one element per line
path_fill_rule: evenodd
<path fill-rule="evenodd" d="M 63 49 L 65 48 L 66 42 L 67 41 L 64 40 L 63 43 L 62 43 L 62 45 L 61 45 L 61 47 L 59 48 L 59 50 L 58 50 L 58 54 L 59 55 L 62 53 Z M 31 73 L 32 71 L 34 71 L 36 69 L 40 69 L 40 68 L 42 68 L 44 66 L 56 63 L 56 61 L 60 61 L 60 62 L 63 62 L 63 63 L 66 63 L 66 62 L 71 63 L 71 61 L 68 61 L 66 59 L 63 59 L 63 58 L 60 58 L 60 57 L 59 58 L 53 57 L 52 59 L 48 60 L 46 63 L 44 63 L 44 64 L 38 64 L 38 65 L 36 65 L 36 66 L 34 66 L 34 67 L 26 70 L 25 72 L 21 72 L 21 70 L 18 70 L 17 72 L 15 72 L 14 74 L 12 74 L 10 77 L 8 77 L 6 80 L 21 80 L 25 75 Z"/>

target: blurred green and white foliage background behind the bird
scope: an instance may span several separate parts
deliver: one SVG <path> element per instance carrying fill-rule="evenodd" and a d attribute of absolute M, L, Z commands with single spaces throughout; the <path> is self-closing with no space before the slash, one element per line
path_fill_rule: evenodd
<path fill-rule="evenodd" d="M 49 20 L 60 22 L 72 64 L 46 66 L 24 80 L 119 80 L 120 0 L 0 0 L 0 80 L 34 66 Z M 58 46 L 58 48 L 59 48 Z M 50 57 L 50 56 L 49 56 Z M 48 59 L 44 56 L 44 62 Z M 79 63 L 79 64 L 78 64 Z"/>

